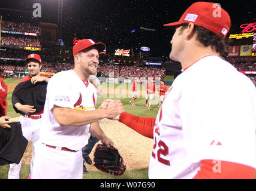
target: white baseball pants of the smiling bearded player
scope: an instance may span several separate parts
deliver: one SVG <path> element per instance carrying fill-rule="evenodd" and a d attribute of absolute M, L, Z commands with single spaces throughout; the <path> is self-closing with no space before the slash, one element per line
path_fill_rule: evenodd
<path fill-rule="evenodd" d="M 35 144 L 32 179 L 82 179 L 82 149 L 77 152 L 53 149 L 38 141 Z"/>

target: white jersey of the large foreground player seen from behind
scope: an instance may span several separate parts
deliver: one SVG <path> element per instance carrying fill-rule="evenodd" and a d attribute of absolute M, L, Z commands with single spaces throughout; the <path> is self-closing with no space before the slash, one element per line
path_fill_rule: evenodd
<path fill-rule="evenodd" d="M 230 63 L 205 56 L 177 76 L 156 117 L 149 178 L 193 178 L 200 161 L 256 168 L 256 90 Z"/>

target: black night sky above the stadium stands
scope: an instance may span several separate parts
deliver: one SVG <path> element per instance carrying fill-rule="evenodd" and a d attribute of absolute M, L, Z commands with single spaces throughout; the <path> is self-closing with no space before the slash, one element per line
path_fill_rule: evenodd
<path fill-rule="evenodd" d="M 41 4 L 41 18 L 33 18 L 32 5 Z M 73 45 L 73 38 L 91 38 L 104 42 L 107 51 L 131 48 L 131 30 L 139 27 L 155 29 L 146 35 L 158 55 L 168 56 L 173 31 L 163 24 L 179 20 L 195 1 L 181 0 L 63 0 L 62 40 Z M 241 33 L 240 24 L 255 21 L 254 1 L 218 1 L 231 17 L 230 33 Z M 8 0 L 0 2 L 4 20 L 58 23 L 58 0 Z M 14 11 L 20 10 L 20 11 Z M 25 12 L 27 11 L 27 12 Z M 153 45 L 152 45 L 153 44 Z M 143 45 L 143 44 L 141 44 Z"/>

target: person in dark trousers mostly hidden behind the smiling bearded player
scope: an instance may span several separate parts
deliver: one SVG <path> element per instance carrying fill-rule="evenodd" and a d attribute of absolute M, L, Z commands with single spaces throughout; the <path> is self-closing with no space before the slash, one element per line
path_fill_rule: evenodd
<path fill-rule="evenodd" d="M 97 90 L 97 96 L 101 96 L 103 94 L 103 88 L 101 87 L 100 80 L 97 78 L 97 74 L 91 75 L 88 78 L 88 81 L 94 85 L 94 87 Z M 100 123 L 98 121 L 98 123 Z M 92 149 L 94 148 L 94 145 L 99 141 L 99 139 L 92 133 L 90 133 L 90 138 L 88 140 L 88 144 L 83 147 L 82 149 L 82 155 L 83 155 L 83 174 L 87 174 L 88 171 L 85 166 L 85 162 L 89 165 L 92 164 L 92 160 L 89 157 L 89 154 L 92 152 Z"/>

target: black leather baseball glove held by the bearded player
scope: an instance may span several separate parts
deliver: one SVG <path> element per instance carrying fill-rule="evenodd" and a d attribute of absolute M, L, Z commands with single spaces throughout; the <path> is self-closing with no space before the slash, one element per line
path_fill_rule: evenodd
<path fill-rule="evenodd" d="M 126 170 L 126 165 L 115 147 L 107 147 L 104 144 L 98 144 L 94 152 L 95 167 L 103 172 L 114 175 L 122 175 Z"/>

